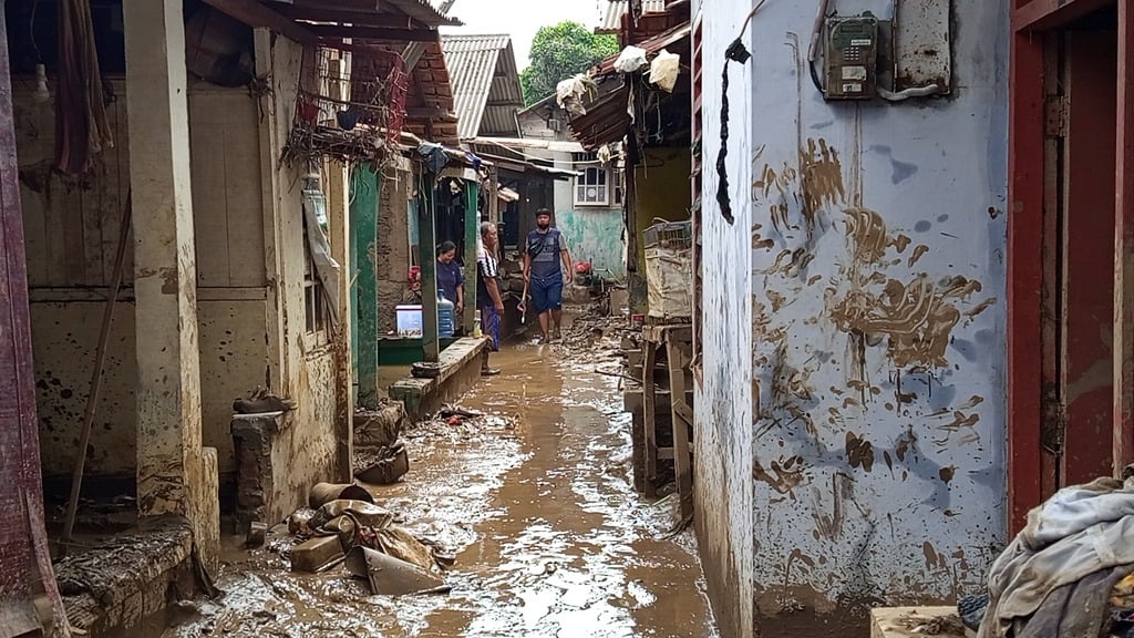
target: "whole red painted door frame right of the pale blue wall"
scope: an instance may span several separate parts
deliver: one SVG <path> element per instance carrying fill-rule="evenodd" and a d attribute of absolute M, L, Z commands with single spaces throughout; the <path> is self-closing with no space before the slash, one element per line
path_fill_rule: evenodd
<path fill-rule="evenodd" d="M 1009 528 L 1018 531 L 1027 511 L 1044 497 L 1041 484 L 1042 343 L 1044 192 L 1044 37 L 1114 0 L 1013 0 L 1009 76 L 1008 201 L 1008 511 Z M 1134 8 L 1118 0 L 1119 67 L 1118 149 L 1116 165 L 1116 292 L 1114 465 L 1132 459 L 1134 450 L 1134 137 L 1132 89 L 1134 70 Z"/>

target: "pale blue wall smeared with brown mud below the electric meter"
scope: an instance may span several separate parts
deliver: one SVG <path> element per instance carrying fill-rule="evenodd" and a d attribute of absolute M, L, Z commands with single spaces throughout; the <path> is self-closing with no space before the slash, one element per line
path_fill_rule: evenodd
<path fill-rule="evenodd" d="M 831 5 L 892 14 L 889 1 Z M 751 91 L 752 142 L 729 144 L 752 162 L 734 199 L 752 217 L 710 227 L 729 245 L 745 235 L 752 255 L 767 637 L 866 636 L 872 606 L 974 590 L 1005 542 L 1006 9 L 955 0 L 954 94 L 902 104 L 821 99 L 806 62 L 814 11 L 769 2 L 752 23 L 752 83 L 731 91 Z M 731 329 L 716 325 L 722 293 L 706 291 L 705 335 Z M 705 380 L 710 396 L 735 385 Z"/>

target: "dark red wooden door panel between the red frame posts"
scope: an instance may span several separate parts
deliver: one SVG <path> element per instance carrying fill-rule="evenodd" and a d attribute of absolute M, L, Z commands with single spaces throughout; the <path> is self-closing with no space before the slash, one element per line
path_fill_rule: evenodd
<path fill-rule="evenodd" d="M 1063 485 L 1109 476 L 1114 462 L 1115 118 L 1114 32 L 1067 34 L 1066 187 L 1063 220 Z"/>

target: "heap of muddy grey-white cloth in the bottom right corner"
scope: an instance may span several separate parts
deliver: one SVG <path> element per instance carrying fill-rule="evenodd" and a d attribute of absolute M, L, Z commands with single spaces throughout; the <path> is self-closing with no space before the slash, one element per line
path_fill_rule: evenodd
<path fill-rule="evenodd" d="M 1049 597 L 1052 605 L 1059 604 L 1060 596 L 1083 601 L 1101 595 L 1106 599 L 1115 581 L 1129 570 L 1110 580 L 1097 580 L 1092 574 L 1134 565 L 1134 544 L 1128 543 L 1129 538 L 1134 538 L 1134 479 L 1123 482 L 1101 478 L 1059 490 L 1029 512 L 1027 526 L 992 564 L 991 601 L 978 636 L 1021 636 L 1017 631 L 1022 629 L 1021 621 L 1051 613 L 1051 610 L 1040 613 Z M 1056 590 L 1089 577 L 1091 580 L 1083 586 L 1091 589 L 1070 589 L 1052 596 Z M 1105 611 L 1098 613 L 1101 623 Z"/>

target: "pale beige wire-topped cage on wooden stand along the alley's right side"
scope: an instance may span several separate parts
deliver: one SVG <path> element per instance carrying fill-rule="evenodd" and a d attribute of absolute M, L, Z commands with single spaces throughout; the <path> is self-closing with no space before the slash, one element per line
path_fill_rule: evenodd
<path fill-rule="evenodd" d="M 693 224 L 661 221 L 643 233 L 650 317 L 686 320 L 693 316 Z"/>

